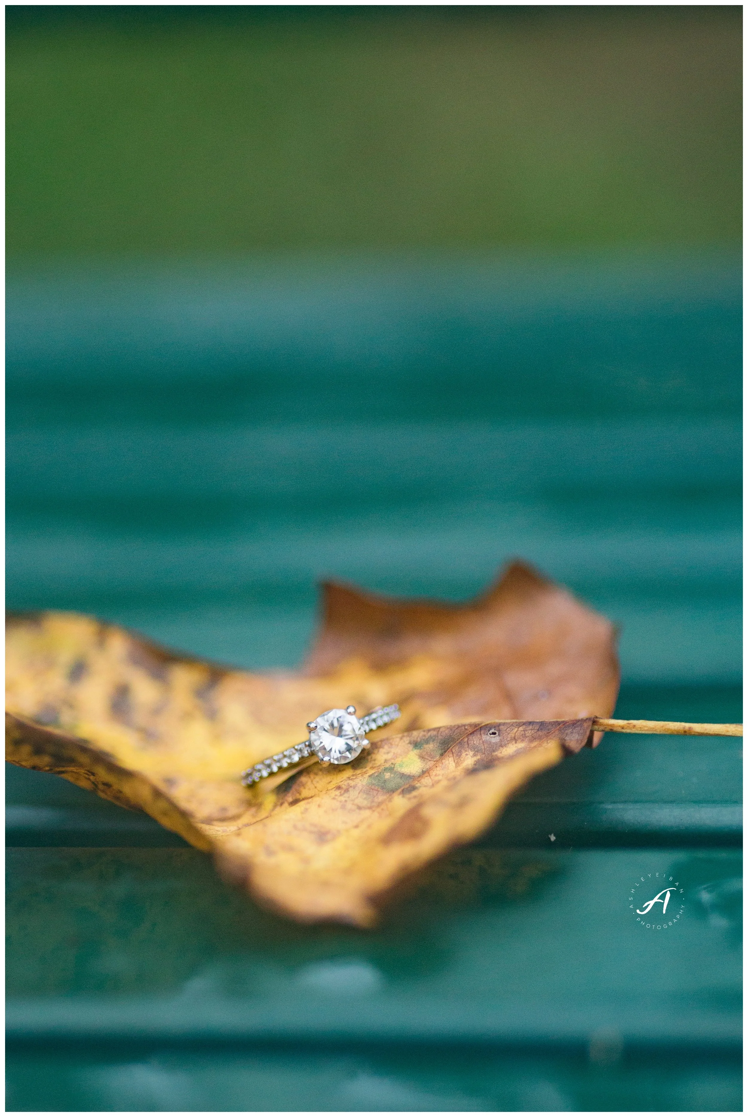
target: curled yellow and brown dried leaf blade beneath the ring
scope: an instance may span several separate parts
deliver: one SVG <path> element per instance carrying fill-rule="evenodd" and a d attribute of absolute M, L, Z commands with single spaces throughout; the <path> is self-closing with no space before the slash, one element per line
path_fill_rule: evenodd
<path fill-rule="evenodd" d="M 10 761 L 147 811 L 296 919 L 359 926 L 592 744 L 618 687 L 610 622 L 520 563 L 467 605 L 327 585 L 297 674 L 231 670 L 60 612 L 9 619 L 7 669 Z M 323 709 L 393 701 L 405 732 L 371 735 L 352 764 L 241 785 Z"/>

